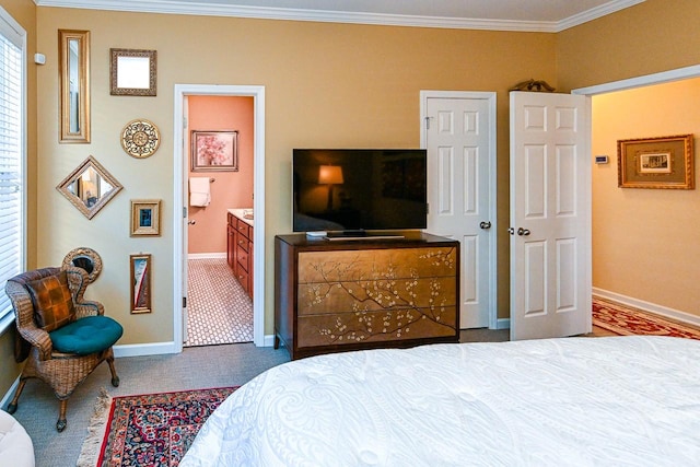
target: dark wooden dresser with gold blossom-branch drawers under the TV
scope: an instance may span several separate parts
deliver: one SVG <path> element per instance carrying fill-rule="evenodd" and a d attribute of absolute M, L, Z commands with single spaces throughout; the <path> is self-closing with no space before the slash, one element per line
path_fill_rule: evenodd
<path fill-rule="evenodd" d="M 459 243 L 275 238 L 275 347 L 318 353 L 459 340 Z"/>

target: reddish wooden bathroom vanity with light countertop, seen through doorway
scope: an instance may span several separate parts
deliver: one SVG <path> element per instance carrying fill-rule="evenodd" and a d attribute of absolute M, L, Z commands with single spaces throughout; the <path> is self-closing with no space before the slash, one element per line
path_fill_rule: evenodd
<path fill-rule="evenodd" d="M 230 209 L 226 227 L 226 260 L 243 290 L 253 299 L 253 221 L 243 209 Z"/>

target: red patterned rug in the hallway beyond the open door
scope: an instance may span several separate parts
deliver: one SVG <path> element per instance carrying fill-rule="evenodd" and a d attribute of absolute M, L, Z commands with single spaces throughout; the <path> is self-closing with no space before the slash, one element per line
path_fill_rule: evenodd
<path fill-rule="evenodd" d="M 672 336 L 700 340 L 700 329 L 596 296 L 593 297 L 593 325 L 621 336 Z"/>

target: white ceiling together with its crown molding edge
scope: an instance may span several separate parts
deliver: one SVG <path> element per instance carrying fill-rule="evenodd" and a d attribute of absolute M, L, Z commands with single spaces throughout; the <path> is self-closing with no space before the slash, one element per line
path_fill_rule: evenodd
<path fill-rule="evenodd" d="M 39 7 L 559 32 L 644 0 L 34 0 Z"/>

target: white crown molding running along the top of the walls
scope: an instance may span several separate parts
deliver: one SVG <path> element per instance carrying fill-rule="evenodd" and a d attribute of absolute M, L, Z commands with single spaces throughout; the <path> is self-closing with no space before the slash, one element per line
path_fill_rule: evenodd
<path fill-rule="evenodd" d="M 34 0 L 37 7 L 78 8 L 85 10 L 128 11 L 138 13 L 170 13 L 201 16 L 233 16 L 262 20 L 312 21 L 389 26 L 435 27 L 451 30 L 487 30 L 558 33 L 606 14 L 632 7 L 645 0 L 612 0 L 562 21 L 512 21 L 469 17 L 418 16 L 328 10 L 245 7 L 235 4 L 192 2 L 182 0 Z"/>

